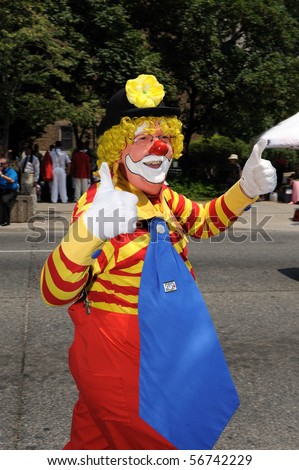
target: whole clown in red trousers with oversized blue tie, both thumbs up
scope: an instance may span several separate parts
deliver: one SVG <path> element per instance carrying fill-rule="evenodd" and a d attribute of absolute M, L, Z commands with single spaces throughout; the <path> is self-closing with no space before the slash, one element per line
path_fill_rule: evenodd
<path fill-rule="evenodd" d="M 239 405 L 188 260 L 188 236 L 227 229 L 276 185 L 259 141 L 241 180 L 198 204 L 166 183 L 179 110 L 152 75 L 128 80 L 100 125 L 100 182 L 75 206 L 41 292 L 75 325 L 79 397 L 65 449 L 211 449 Z"/>

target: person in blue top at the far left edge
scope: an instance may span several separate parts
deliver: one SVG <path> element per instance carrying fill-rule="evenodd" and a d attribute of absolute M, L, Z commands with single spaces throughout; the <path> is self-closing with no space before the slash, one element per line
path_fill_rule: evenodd
<path fill-rule="evenodd" d="M 17 198 L 17 172 L 9 167 L 8 158 L 0 157 L 0 225 L 10 225 L 10 211 Z"/>

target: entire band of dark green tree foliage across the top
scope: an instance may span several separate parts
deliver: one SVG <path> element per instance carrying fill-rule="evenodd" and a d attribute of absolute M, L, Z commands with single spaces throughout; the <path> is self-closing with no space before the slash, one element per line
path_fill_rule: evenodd
<path fill-rule="evenodd" d="M 186 154 L 196 134 L 232 140 L 213 151 L 201 144 L 208 178 L 231 151 L 245 158 L 238 139 L 298 111 L 294 0 L 0 0 L 0 11 L 6 134 L 16 122 L 34 134 L 64 117 L 83 131 L 127 79 L 152 73 L 165 101 L 179 101 Z M 187 165 L 197 159 L 192 145 Z"/>

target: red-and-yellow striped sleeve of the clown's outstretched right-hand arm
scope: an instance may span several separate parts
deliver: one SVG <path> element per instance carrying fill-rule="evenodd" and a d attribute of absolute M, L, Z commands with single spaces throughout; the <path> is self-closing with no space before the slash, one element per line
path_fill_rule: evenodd
<path fill-rule="evenodd" d="M 194 238 L 209 238 L 226 230 L 256 198 L 244 195 L 239 183 L 205 204 L 190 201 L 170 188 L 164 191 L 169 207 L 184 232 Z"/>

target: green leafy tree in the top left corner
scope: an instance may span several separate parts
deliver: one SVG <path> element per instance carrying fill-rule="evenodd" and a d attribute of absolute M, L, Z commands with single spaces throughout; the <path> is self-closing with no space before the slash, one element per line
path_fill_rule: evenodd
<path fill-rule="evenodd" d="M 59 21 L 53 21 L 58 11 L 52 3 L 1 0 L 0 116 L 5 150 L 13 123 L 21 121 L 36 131 L 68 115 L 61 88 L 70 82 L 81 53 L 66 39 L 71 21 L 66 2 L 60 2 Z"/>

